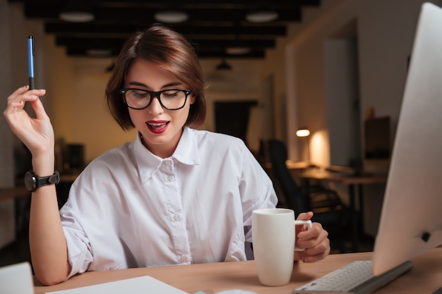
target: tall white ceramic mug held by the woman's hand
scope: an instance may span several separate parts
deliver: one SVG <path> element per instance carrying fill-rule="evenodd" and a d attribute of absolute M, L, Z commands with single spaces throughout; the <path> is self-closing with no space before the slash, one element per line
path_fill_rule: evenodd
<path fill-rule="evenodd" d="M 282 286 L 292 276 L 295 226 L 311 221 L 297 221 L 292 209 L 257 209 L 252 213 L 253 256 L 261 284 Z"/>

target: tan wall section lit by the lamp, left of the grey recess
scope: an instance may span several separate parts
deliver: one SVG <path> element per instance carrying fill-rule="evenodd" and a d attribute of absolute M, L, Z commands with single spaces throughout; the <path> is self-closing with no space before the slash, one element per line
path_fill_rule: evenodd
<path fill-rule="evenodd" d="M 328 120 L 332 118 L 327 109 L 325 42 L 352 21 L 354 10 L 347 1 L 336 1 L 288 42 L 286 57 L 292 72 L 287 72 L 287 111 L 296 120 L 287 126 L 287 144 L 294 160 L 299 158 L 295 132 L 306 125 L 311 130 L 311 161 L 330 165 Z"/>

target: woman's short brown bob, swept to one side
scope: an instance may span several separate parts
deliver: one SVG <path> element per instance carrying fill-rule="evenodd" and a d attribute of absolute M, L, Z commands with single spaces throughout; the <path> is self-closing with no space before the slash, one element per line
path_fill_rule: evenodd
<path fill-rule="evenodd" d="M 124 44 L 115 62 L 112 76 L 107 82 L 106 98 L 109 111 L 123 130 L 135 128 L 119 90 L 124 87 L 126 71 L 135 59 L 156 63 L 165 71 L 189 85 L 195 102 L 191 104 L 185 125 L 198 128 L 205 120 L 206 87 L 203 71 L 195 50 L 178 32 L 163 25 L 151 25 L 136 32 Z"/>

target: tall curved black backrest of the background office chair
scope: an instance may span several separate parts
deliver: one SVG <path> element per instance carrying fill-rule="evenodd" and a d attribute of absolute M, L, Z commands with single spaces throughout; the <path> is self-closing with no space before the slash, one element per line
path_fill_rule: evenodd
<path fill-rule="evenodd" d="M 268 140 L 268 152 L 274 180 L 280 184 L 280 188 L 285 194 L 285 200 L 289 208 L 293 209 L 295 214 L 308 211 L 309 205 L 306 200 L 306 195 L 304 195 L 294 181 L 285 164 L 287 160 L 287 147 L 284 142 L 280 140 Z"/>

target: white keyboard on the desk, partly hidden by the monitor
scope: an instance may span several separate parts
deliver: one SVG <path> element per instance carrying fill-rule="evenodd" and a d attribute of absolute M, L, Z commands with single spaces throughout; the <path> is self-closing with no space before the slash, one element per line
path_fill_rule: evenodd
<path fill-rule="evenodd" d="M 332 294 L 332 293 L 373 293 L 385 286 L 398 276 L 405 274 L 412 268 L 412 262 L 405 262 L 386 274 L 374 276 L 371 274 L 371 261 L 357 261 L 347 264 L 330 274 L 317 278 L 304 286 L 296 288 L 292 294 Z"/>

